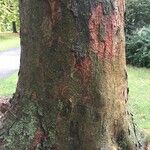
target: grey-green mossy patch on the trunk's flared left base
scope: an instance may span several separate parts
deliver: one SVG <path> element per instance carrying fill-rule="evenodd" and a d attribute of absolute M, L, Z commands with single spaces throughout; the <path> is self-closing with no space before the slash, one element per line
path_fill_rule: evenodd
<path fill-rule="evenodd" d="M 16 114 L 18 118 L 3 135 L 6 150 L 27 148 L 34 138 L 35 131 L 38 127 L 35 103 L 27 99 L 23 101 L 23 107 Z"/>

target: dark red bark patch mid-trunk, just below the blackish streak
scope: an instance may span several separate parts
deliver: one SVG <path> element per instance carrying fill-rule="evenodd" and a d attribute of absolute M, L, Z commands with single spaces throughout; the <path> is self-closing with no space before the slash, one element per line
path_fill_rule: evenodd
<path fill-rule="evenodd" d="M 91 78 L 92 62 L 89 57 L 82 58 L 79 64 L 75 65 L 77 71 L 81 74 L 82 84 L 87 84 Z"/>

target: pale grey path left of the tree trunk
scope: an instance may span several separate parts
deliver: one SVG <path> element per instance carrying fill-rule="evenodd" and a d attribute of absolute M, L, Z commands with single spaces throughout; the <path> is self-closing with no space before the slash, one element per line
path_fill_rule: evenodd
<path fill-rule="evenodd" d="M 20 65 L 20 49 L 14 48 L 0 52 L 0 79 L 18 71 Z"/>

